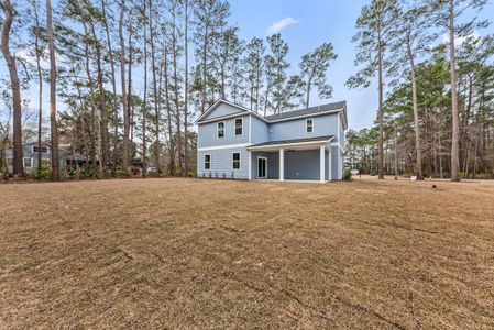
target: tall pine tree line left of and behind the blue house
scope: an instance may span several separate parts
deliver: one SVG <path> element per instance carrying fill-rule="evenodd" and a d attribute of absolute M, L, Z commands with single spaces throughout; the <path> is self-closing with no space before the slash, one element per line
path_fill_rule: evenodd
<path fill-rule="evenodd" d="M 13 146 L 17 176 L 29 139 L 80 153 L 97 177 L 127 175 L 132 166 L 143 175 L 151 166 L 189 175 L 197 140 L 191 119 L 217 99 L 271 114 L 309 107 L 316 92 L 331 97 L 331 43 L 304 55 L 290 76 L 282 36 L 241 40 L 228 23 L 226 0 L 59 0 L 53 8 L 50 0 L 3 0 L 1 8 L 10 79 L 2 90 L 1 151 Z M 45 82 L 50 129 L 43 125 Z M 24 91 L 33 86 L 37 125 L 26 129 L 23 117 L 33 110 Z M 61 176 L 56 158 L 52 154 L 53 179 Z"/>

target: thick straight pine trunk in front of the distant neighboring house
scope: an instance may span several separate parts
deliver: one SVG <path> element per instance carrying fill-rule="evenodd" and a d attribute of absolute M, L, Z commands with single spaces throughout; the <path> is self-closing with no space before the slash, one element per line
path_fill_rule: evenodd
<path fill-rule="evenodd" d="M 52 152 L 52 179 L 59 180 L 61 172 L 58 167 L 58 128 L 56 123 L 56 62 L 55 45 L 53 41 L 52 1 L 46 0 L 46 32 L 48 35 L 50 51 L 50 129 L 51 129 L 51 152 Z"/>

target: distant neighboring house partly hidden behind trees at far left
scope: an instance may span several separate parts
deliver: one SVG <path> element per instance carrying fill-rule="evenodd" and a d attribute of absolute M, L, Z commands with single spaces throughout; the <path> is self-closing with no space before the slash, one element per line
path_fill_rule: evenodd
<path fill-rule="evenodd" d="M 23 161 L 22 164 L 24 166 L 25 174 L 33 174 L 37 168 L 37 152 L 39 145 L 37 142 L 28 142 L 24 143 L 22 147 Z M 51 147 L 48 144 L 43 143 L 41 146 L 42 160 L 52 160 Z M 13 151 L 12 148 L 7 150 L 7 168 L 9 173 L 13 172 Z M 58 162 L 61 172 L 64 170 L 67 166 L 75 166 L 76 164 L 84 164 L 87 162 L 86 157 L 76 153 L 72 154 L 64 148 L 58 148 Z"/>

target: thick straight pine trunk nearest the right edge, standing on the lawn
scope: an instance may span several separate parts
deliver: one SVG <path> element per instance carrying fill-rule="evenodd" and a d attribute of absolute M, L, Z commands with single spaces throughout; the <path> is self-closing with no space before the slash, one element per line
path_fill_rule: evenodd
<path fill-rule="evenodd" d="M 454 56 L 454 1 L 449 0 L 450 79 L 451 79 L 451 180 L 458 182 L 460 168 L 460 127 L 458 118 L 457 62 Z"/>

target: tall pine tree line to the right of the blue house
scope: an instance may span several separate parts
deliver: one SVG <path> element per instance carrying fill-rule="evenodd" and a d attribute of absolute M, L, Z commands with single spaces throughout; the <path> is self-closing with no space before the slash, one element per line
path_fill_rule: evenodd
<path fill-rule="evenodd" d="M 477 19 L 484 0 L 373 0 L 353 41 L 377 79 L 373 128 L 348 132 L 348 165 L 364 173 L 494 177 L 494 36 Z M 443 40 L 441 40 L 441 37 Z"/>

